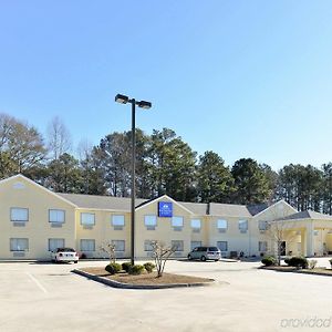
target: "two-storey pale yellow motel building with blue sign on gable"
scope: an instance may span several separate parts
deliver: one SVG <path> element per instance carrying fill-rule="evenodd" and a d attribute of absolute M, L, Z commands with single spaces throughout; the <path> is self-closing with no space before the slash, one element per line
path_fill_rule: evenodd
<path fill-rule="evenodd" d="M 135 256 L 149 259 L 151 241 L 176 246 L 187 257 L 199 246 L 217 246 L 222 257 L 276 252 L 267 222 L 282 227 L 284 255 L 332 253 L 332 216 L 273 205 L 175 201 L 162 196 L 136 199 Z M 87 258 L 103 258 L 112 241 L 117 258 L 131 252 L 131 199 L 58 194 L 15 175 L 0 181 L 0 259 L 50 259 L 51 250 L 72 247 Z"/>

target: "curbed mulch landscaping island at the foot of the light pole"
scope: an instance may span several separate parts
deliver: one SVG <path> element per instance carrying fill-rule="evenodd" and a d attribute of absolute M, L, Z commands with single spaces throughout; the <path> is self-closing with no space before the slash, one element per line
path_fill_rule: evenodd
<path fill-rule="evenodd" d="M 214 279 L 179 276 L 173 273 L 163 273 L 163 277 L 157 277 L 157 272 L 143 274 L 128 274 L 121 272 L 111 274 L 104 268 L 82 268 L 73 270 L 74 273 L 84 276 L 89 279 L 115 287 L 127 289 L 160 289 L 176 287 L 197 287 L 214 284 Z"/>

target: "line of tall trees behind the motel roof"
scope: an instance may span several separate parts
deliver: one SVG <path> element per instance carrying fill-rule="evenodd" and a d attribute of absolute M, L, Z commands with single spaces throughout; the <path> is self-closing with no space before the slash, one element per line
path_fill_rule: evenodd
<path fill-rule="evenodd" d="M 131 132 L 113 132 L 97 145 L 81 142 L 55 117 L 46 138 L 0 114 L 0 178 L 21 173 L 58 193 L 131 195 Z M 176 200 L 259 204 L 284 199 L 299 210 L 332 214 L 332 163 L 286 165 L 278 172 L 252 158 L 225 164 L 212 151 L 197 155 L 173 129 L 136 129 L 136 196 L 167 194 Z"/>

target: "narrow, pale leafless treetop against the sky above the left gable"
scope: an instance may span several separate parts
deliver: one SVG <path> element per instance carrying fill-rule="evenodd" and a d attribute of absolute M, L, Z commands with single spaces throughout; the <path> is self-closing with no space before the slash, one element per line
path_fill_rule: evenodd
<path fill-rule="evenodd" d="M 52 158 L 55 160 L 72 147 L 71 134 L 59 116 L 55 116 L 48 126 L 48 142 Z"/>

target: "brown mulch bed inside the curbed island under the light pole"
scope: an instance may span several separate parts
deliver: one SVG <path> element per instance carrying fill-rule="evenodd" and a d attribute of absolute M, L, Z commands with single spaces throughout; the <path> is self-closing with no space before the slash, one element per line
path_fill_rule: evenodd
<path fill-rule="evenodd" d="M 172 273 L 164 273 L 163 277 L 157 278 L 157 272 L 144 273 L 139 276 L 132 276 L 125 272 L 117 274 L 110 274 L 104 268 L 82 268 L 84 272 L 107 278 L 117 282 L 131 283 L 131 284 L 174 284 L 174 283 L 200 283 L 200 282 L 212 282 L 214 279 L 179 276 Z"/>

